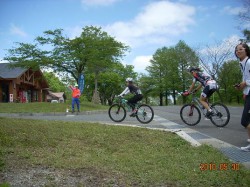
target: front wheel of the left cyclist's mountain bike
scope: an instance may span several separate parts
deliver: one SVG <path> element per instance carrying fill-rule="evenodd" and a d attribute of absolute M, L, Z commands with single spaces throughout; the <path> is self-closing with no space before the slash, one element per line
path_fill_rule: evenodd
<path fill-rule="evenodd" d="M 126 117 L 126 110 L 119 104 L 113 104 L 109 107 L 109 117 L 114 122 L 121 122 Z"/>

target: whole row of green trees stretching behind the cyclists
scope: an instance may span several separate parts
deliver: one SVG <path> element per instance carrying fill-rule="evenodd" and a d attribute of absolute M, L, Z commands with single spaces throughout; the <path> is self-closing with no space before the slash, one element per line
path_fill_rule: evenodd
<path fill-rule="evenodd" d="M 187 98 L 179 93 L 191 84 L 187 70 L 199 66 L 218 82 L 217 99 L 228 103 L 242 101 L 232 86 L 241 80 L 238 62 L 226 61 L 232 55 L 232 48 L 209 51 L 207 47 L 206 55 L 201 55 L 179 41 L 175 46 L 157 49 L 146 67 L 148 73 L 140 75 L 132 65 L 121 63 L 128 50 L 128 46 L 101 28 L 87 26 L 74 39 L 63 36 L 61 29 L 45 31 L 35 44 L 17 43 L 17 47 L 8 50 L 5 60 L 12 66 L 42 68 L 52 91 L 65 91 L 66 85 L 78 82 L 83 73 L 85 99 L 102 104 L 111 104 L 114 96 L 124 89 L 125 79 L 132 77 L 142 89 L 145 102 L 161 106 L 186 102 Z"/>

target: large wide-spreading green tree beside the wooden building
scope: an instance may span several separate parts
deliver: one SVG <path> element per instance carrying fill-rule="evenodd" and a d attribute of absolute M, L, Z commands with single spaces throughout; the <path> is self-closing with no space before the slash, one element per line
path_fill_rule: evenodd
<path fill-rule="evenodd" d="M 128 46 L 116 41 L 101 28 L 86 26 L 81 36 L 69 39 L 62 29 L 44 32 L 35 39 L 35 44 L 17 43 L 5 57 L 13 66 L 51 68 L 62 75 L 69 74 L 78 82 L 78 77 L 87 69 L 95 75 L 95 93 L 98 75 L 117 63 Z"/>

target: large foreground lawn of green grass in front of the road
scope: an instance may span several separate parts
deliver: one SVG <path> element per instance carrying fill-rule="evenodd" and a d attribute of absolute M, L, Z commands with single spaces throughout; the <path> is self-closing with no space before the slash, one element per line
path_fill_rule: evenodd
<path fill-rule="evenodd" d="M 216 165 L 216 170 L 201 171 L 204 163 Z M 219 169 L 223 163 L 227 170 Z M 192 147 L 163 131 L 0 118 L 0 172 L 29 167 L 87 170 L 93 180 L 104 176 L 101 186 L 250 186 L 250 171 L 242 165 L 234 171 L 231 164 L 210 146 Z"/>

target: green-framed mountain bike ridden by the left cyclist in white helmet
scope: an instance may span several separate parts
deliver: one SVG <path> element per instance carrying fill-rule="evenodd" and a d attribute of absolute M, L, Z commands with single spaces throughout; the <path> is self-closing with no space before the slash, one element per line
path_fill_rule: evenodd
<path fill-rule="evenodd" d="M 154 118 L 154 110 L 147 104 L 137 103 L 135 105 L 136 112 L 134 116 L 141 123 L 149 123 Z M 116 96 L 114 104 L 109 107 L 109 117 L 114 122 L 122 122 L 127 115 L 127 112 L 132 111 L 128 101 L 122 97 Z"/>

